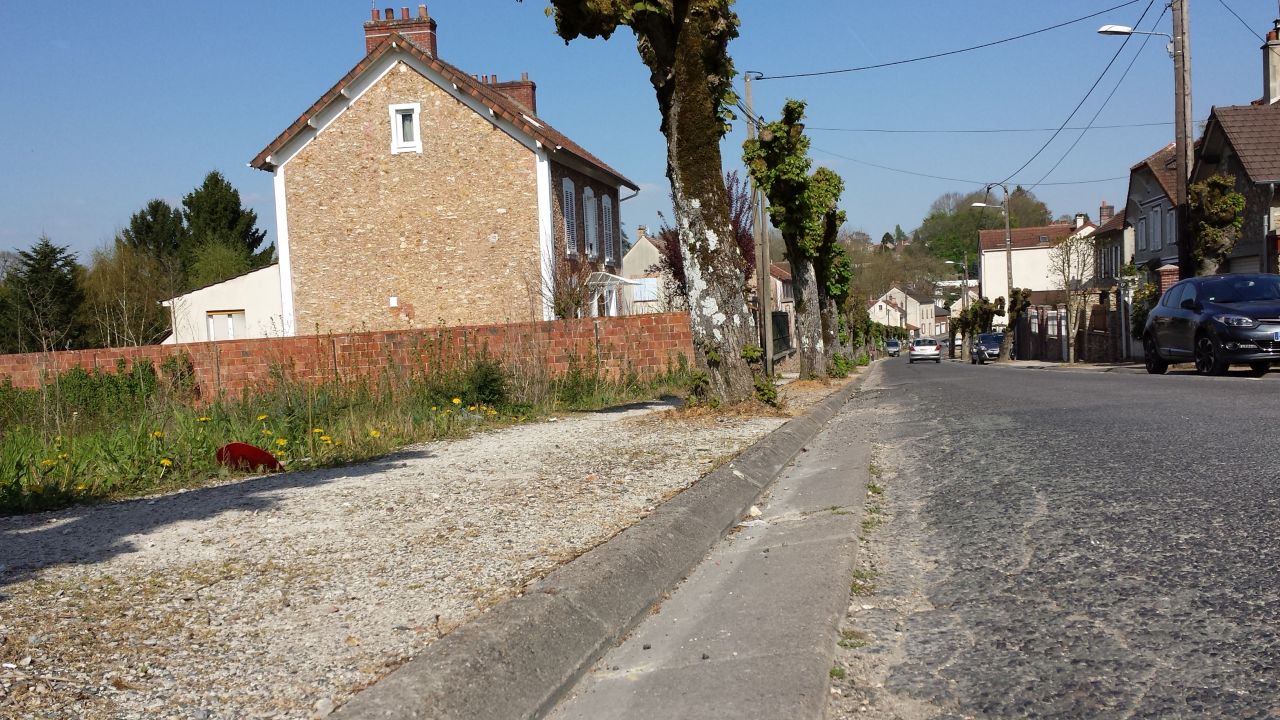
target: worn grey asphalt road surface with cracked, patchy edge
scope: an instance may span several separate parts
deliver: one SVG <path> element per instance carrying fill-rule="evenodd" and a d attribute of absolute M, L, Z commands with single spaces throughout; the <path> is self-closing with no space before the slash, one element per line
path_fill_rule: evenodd
<path fill-rule="evenodd" d="M 828 716 L 1280 717 L 1280 369 L 872 372 Z"/>

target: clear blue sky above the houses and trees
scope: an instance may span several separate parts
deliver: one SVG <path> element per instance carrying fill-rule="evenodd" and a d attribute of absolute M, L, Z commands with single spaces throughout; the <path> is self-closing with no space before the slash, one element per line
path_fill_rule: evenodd
<path fill-rule="evenodd" d="M 998 40 L 1098 12 L 1124 0 L 740 0 L 739 70 L 765 74 L 884 63 Z M 1189 0 L 1194 114 L 1261 95 L 1261 42 L 1272 0 Z M 1224 4 L 1225 3 L 1225 4 Z M 397 6 L 403 3 L 398 3 Z M 384 6 L 380 3 L 379 6 Z M 413 6 L 417 3 L 412 4 Z M 538 83 L 539 114 L 639 183 L 622 206 L 636 224 L 668 208 L 664 140 L 648 72 L 630 31 L 566 46 L 544 0 L 434 0 L 439 51 L 476 74 Z M 756 111 L 777 117 L 786 97 L 809 102 L 813 156 L 846 181 L 849 225 L 879 238 L 910 231 L 948 191 L 1004 179 L 1047 140 L 1044 132 L 870 133 L 845 129 L 1052 128 L 1084 96 L 1123 38 L 1096 35 L 1133 24 L 1147 0 L 1091 20 L 987 50 L 886 69 L 755 83 Z M 1234 18 L 1234 9 L 1248 24 Z M 1146 29 L 1170 31 L 1167 15 Z M 0 249 L 41 233 L 88 260 L 147 200 L 177 204 L 220 169 L 274 238 L 270 176 L 247 163 L 361 58 L 366 0 L 218 3 L 65 0 L 0 4 Z M 1073 126 L 1083 126 L 1138 50 L 1133 38 Z M 1132 164 L 1172 140 L 1172 64 L 1165 40 L 1137 53 L 1100 124 L 1048 182 L 1125 178 Z M 739 81 L 741 85 L 741 81 Z M 1012 182 L 1030 184 L 1079 132 L 1065 132 Z M 724 142 L 737 167 L 742 123 Z M 890 172 L 872 163 L 942 181 Z M 961 182 L 973 181 L 973 182 Z M 1126 181 L 1037 188 L 1055 215 L 1120 205 Z M 669 211 L 668 211 L 669 217 Z"/>

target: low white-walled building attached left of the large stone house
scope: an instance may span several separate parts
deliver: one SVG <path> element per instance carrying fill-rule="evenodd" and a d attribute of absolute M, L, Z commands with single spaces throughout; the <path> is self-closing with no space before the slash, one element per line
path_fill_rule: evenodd
<path fill-rule="evenodd" d="M 280 266 L 269 265 L 237 278 L 202 287 L 169 301 L 173 334 L 165 345 L 228 340 L 225 314 L 233 314 L 234 338 L 284 336 L 284 314 L 280 307 Z M 215 316 L 216 337 L 209 337 L 209 314 Z M 243 313 L 243 322 L 238 314 Z M 243 337 L 241 337 L 243 333 Z"/>

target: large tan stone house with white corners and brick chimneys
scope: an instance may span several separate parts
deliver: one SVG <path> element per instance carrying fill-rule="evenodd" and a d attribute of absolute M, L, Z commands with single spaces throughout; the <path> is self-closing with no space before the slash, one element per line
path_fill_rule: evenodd
<path fill-rule="evenodd" d="M 616 313 L 637 186 L 540 118 L 527 76 L 442 60 L 425 5 L 364 32 L 365 56 L 251 161 L 274 176 L 285 334 L 543 320 L 573 293 Z"/>

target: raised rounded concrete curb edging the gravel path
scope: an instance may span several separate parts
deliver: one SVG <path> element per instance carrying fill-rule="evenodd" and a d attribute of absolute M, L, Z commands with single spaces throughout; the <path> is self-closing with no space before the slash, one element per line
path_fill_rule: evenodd
<path fill-rule="evenodd" d="M 652 515 L 431 643 L 330 717 L 526 719 L 549 711 L 707 556 L 840 411 L 865 372 Z"/>

